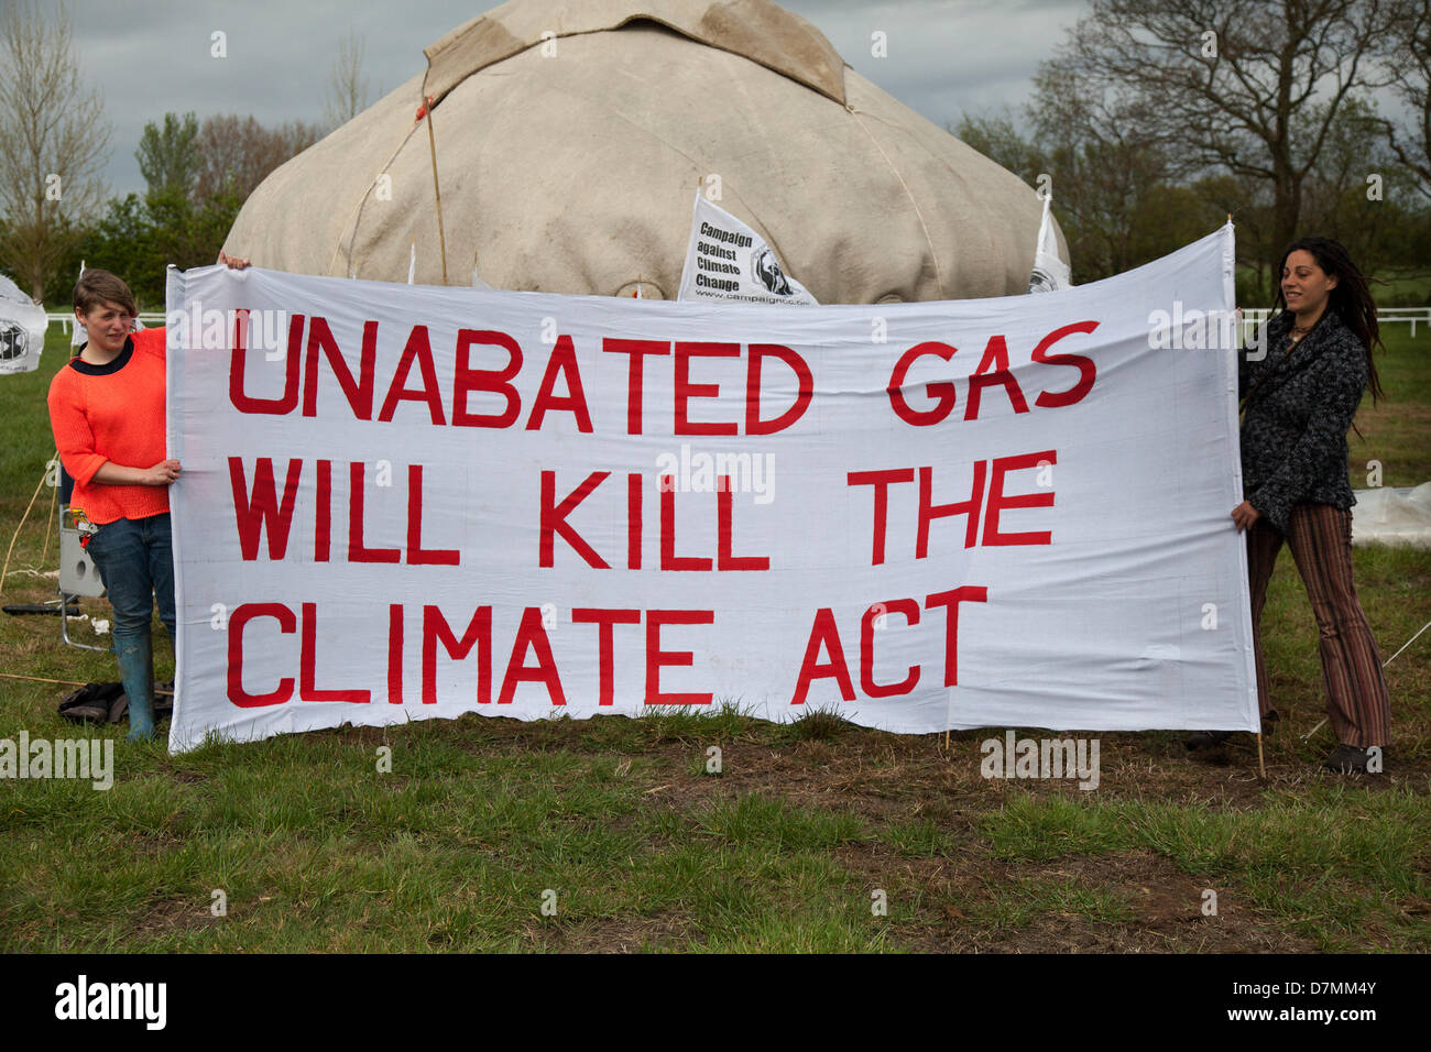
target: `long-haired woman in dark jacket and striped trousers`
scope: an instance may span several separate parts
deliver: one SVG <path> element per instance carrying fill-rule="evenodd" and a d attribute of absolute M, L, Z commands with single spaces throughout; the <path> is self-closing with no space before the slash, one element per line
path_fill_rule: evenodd
<path fill-rule="evenodd" d="M 1381 398 L 1371 359 L 1381 344 L 1367 279 L 1339 242 L 1302 238 L 1282 253 L 1281 308 L 1262 333 L 1266 354 L 1238 369 L 1242 419 L 1242 485 L 1232 510 L 1246 531 L 1252 593 L 1252 644 L 1262 721 L 1278 719 L 1262 660 L 1262 605 L 1284 541 L 1292 550 L 1317 618 L 1335 771 L 1381 769 L 1391 724 L 1381 654 L 1357 598 L 1351 562 L 1347 429 L 1362 392 Z M 1189 749 L 1219 744 L 1228 731 L 1201 731 Z M 1375 750 L 1375 751 L 1374 751 Z M 1375 757 L 1375 761 L 1374 761 Z"/>

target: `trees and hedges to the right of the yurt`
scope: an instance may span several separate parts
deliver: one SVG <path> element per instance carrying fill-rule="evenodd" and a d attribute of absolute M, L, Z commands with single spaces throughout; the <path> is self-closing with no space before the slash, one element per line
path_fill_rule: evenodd
<path fill-rule="evenodd" d="M 1231 215 L 1238 301 L 1254 306 L 1308 233 L 1369 273 L 1431 278 L 1428 76 L 1431 0 L 1093 0 L 1022 113 L 950 130 L 1052 195 L 1076 282 Z M 1431 298 L 1390 283 L 1378 301 Z"/>

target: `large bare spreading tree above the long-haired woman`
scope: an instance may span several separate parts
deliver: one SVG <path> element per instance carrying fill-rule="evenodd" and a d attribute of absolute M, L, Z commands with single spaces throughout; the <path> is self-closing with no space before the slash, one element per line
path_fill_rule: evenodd
<path fill-rule="evenodd" d="M 1045 70 L 1109 93 L 1186 169 L 1271 187 L 1272 240 L 1348 99 L 1390 83 L 1377 57 L 1394 0 L 1093 0 Z"/>

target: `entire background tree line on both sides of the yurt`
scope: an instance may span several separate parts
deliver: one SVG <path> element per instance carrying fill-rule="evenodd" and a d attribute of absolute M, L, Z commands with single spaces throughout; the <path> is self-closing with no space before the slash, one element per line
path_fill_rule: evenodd
<path fill-rule="evenodd" d="M 59 11 L 11 0 L 0 19 L 0 269 L 54 299 L 86 259 L 129 275 L 156 306 L 165 263 L 212 263 L 243 199 L 321 129 L 166 113 L 135 155 L 147 190 L 97 205 L 107 126 Z M 349 31 L 331 122 L 361 109 L 359 66 Z M 1390 279 L 1382 303 L 1424 303 L 1428 84 L 1431 0 L 1090 0 L 1022 113 L 964 113 L 950 130 L 1052 193 L 1076 282 L 1232 215 L 1245 305 L 1271 302 L 1282 248 L 1308 233 L 1341 239 Z"/>

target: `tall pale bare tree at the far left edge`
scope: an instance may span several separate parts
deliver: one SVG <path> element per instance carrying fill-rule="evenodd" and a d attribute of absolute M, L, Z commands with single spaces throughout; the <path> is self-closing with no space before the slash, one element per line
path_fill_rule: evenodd
<path fill-rule="evenodd" d="M 7 0 L 0 66 L 0 256 L 43 299 L 46 278 L 106 196 L 110 126 L 80 80 L 63 4 Z"/>

